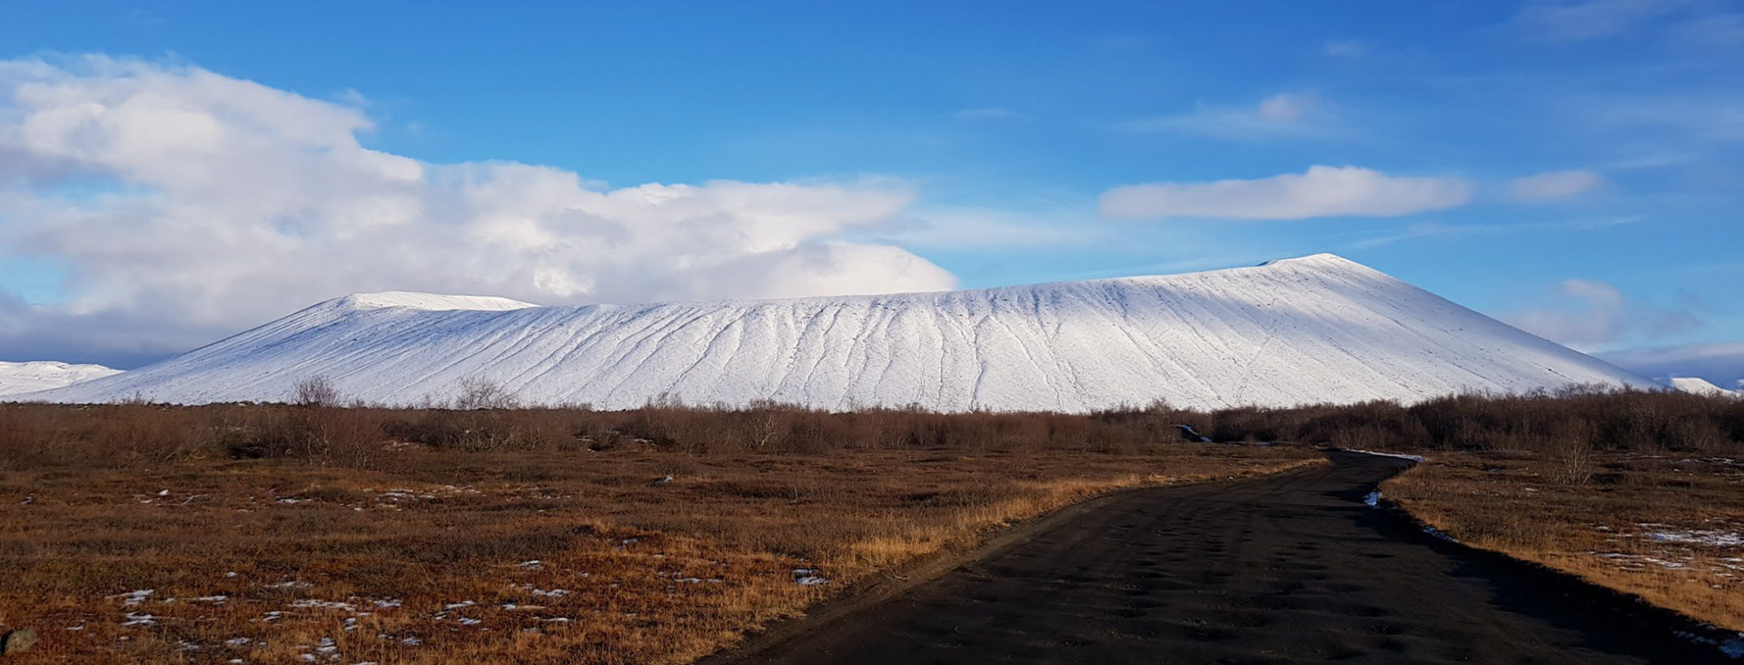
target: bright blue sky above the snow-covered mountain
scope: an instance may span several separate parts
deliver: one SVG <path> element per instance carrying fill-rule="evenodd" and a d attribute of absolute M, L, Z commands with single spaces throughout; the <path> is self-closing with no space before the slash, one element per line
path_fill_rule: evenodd
<path fill-rule="evenodd" d="M 607 192 L 720 180 L 900 192 L 877 220 L 844 213 L 821 230 L 750 243 L 898 248 L 949 274 L 889 269 L 905 276 L 889 279 L 896 286 L 1181 272 L 1334 251 L 1587 351 L 1727 344 L 1744 340 L 1735 295 L 1744 281 L 1741 12 L 1718 0 L 1107 2 L 1071 10 L 12 3 L 0 9 L 9 51 L 0 58 L 52 72 L 5 82 L 0 122 L 9 105 L 14 117 L 26 106 L 7 101 L 24 89 L 17 80 L 98 86 L 140 72 L 206 72 L 354 110 L 356 127 L 338 119 L 323 131 L 420 164 L 544 166 Z M 92 54 L 108 65 L 85 63 Z M 115 61 L 127 72 L 117 73 Z M 246 122 L 262 117 L 283 115 Z M 63 154 L 56 159 L 70 159 Z M 23 159 L 47 162 L 33 155 Z M 31 321 L 12 337 L 0 328 L 0 356 L 140 363 L 328 291 L 394 286 L 396 276 L 405 288 L 455 288 L 410 267 L 307 291 L 265 278 L 239 279 L 248 288 L 235 290 L 199 286 L 199 297 L 167 278 L 155 290 L 124 288 L 127 274 L 173 271 L 187 258 L 98 269 L 150 250 L 75 248 L 51 230 L 77 232 L 77 216 L 31 215 L 42 215 L 42 201 L 122 215 L 127 199 L 171 185 L 117 166 L 119 157 L 87 157 L 77 159 L 99 166 L 52 178 L 30 162 L 9 187 L 33 204 L 7 209 L 0 199 L 0 232 L 12 232 L 0 236 L 9 243 L 0 295 L 12 293 Z M 1250 183 L 1202 187 L 1224 180 Z M 1121 189 L 1132 195 L 1116 199 Z M 167 223 L 153 215 L 150 225 Z M 453 230 L 443 229 L 433 234 Z M 286 232 L 298 234 L 314 232 Z M 865 272 L 860 265 L 844 258 L 837 272 Z M 319 260 L 295 267 L 335 272 Z M 241 274 L 209 271 L 209 279 Z M 806 271 L 764 276 L 743 291 L 671 286 L 692 279 L 682 272 L 644 285 L 563 271 L 473 278 L 541 302 L 869 288 Z M 582 286 L 553 288 L 553 279 Z M 232 312 L 225 302 L 237 300 L 260 305 Z M 150 340 L 101 330 L 152 316 L 181 323 Z"/>

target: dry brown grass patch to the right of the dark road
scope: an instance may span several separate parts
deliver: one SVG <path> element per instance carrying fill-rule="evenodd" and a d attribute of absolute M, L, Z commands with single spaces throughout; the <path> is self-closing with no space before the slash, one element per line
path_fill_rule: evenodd
<path fill-rule="evenodd" d="M 1467 545 L 1744 630 L 1744 461 L 1735 457 L 1437 454 L 1381 492 Z"/>

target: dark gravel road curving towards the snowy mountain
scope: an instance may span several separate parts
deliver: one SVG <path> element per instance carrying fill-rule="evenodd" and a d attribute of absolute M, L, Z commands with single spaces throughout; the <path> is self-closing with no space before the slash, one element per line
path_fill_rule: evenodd
<path fill-rule="evenodd" d="M 1406 466 L 1339 452 L 1270 478 L 1106 497 L 902 595 L 708 662 L 1732 662 L 1678 637 L 1688 625 L 1669 613 L 1364 506 Z"/>

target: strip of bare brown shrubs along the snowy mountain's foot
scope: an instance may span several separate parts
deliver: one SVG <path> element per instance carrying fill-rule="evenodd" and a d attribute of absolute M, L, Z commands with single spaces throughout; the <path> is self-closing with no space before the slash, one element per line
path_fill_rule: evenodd
<path fill-rule="evenodd" d="M 1095 414 L 937 414 L 923 408 L 823 412 L 757 401 L 642 408 L 527 407 L 488 382 L 419 408 L 342 405 L 326 382 L 290 403 L 169 407 L 0 407 L 0 468 L 178 457 L 298 457 L 370 466 L 396 447 L 823 454 L 839 449 L 1135 450 L 1175 445 L 1189 426 L 1216 442 L 1301 442 L 1357 449 L 1495 449 L 1744 454 L 1744 400 L 1577 386 L 1531 394 L 1456 394 L 1414 405 L 1369 401 L 1294 408 L 1172 408 L 1163 401 Z"/>

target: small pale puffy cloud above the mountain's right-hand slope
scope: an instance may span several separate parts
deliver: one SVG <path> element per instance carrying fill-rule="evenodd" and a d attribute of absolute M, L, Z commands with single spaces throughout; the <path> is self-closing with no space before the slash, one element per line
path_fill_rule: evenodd
<path fill-rule="evenodd" d="M 1664 337 L 1702 325 L 1688 309 L 1660 309 L 1631 302 L 1603 281 L 1564 279 L 1550 293 L 1550 302 L 1516 309 L 1500 319 L 1533 335 L 1587 347 L 1631 337 Z"/>

